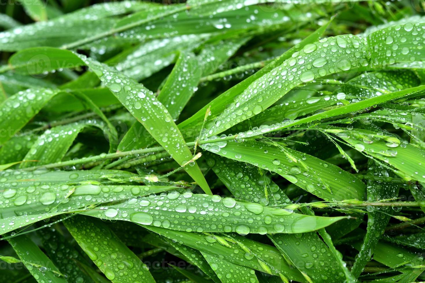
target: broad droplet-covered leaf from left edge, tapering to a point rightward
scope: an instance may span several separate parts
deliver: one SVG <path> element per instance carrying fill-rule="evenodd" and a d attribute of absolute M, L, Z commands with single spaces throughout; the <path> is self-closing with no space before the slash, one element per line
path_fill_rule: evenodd
<path fill-rule="evenodd" d="M 124 201 L 151 193 L 176 189 L 176 186 L 111 185 L 119 181 L 119 171 L 2 171 L 0 173 L 1 218 L 66 212 L 79 208 Z M 23 179 L 26 178 L 26 179 Z M 137 175 L 123 175 L 122 182 L 143 179 Z M 144 180 L 144 179 L 143 179 Z M 15 188 L 19 182 L 19 188 Z M 106 183 L 105 185 L 102 184 Z M 111 210 L 113 211 L 113 210 Z M 37 221 L 37 219 L 34 219 Z M 6 220 L 4 220 L 6 221 Z M 11 226 L 11 225 L 9 225 Z"/>

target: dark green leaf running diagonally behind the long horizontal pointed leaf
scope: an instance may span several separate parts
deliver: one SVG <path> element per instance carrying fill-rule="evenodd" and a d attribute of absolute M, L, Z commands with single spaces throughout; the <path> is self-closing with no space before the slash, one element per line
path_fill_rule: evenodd
<path fill-rule="evenodd" d="M 210 165 L 213 164 L 212 168 L 215 174 L 235 196 L 240 195 L 247 201 L 259 202 L 261 205 L 290 203 L 288 197 L 274 182 L 266 176 L 261 176 L 258 168 L 241 166 L 238 162 L 230 159 L 210 155 L 208 163 Z M 267 199 L 269 195 L 273 197 Z M 334 224 L 339 222 L 337 221 Z M 335 268 L 325 271 L 320 270 L 317 266 L 317 263 L 323 264 L 323 266 L 337 266 L 335 258 L 328 256 L 329 248 L 323 243 L 317 233 L 275 234 L 268 236 L 286 261 L 300 270 L 306 278 L 308 277 L 314 282 L 331 282 L 332 280 L 339 282 L 339 280 L 342 280 L 343 277 L 340 273 L 342 270 Z M 320 272 L 317 272 L 318 270 Z"/>

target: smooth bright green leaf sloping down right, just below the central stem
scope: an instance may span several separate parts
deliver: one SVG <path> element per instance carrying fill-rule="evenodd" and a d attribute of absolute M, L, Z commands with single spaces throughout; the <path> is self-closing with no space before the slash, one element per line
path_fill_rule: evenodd
<path fill-rule="evenodd" d="M 219 139 L 219 138 L 218 138 Z M 363 199 L 365 185 L 341 168 L 277 144 L 245 140 L 201 145 L 203 149 L 278 173 L 325 200 Z"/>

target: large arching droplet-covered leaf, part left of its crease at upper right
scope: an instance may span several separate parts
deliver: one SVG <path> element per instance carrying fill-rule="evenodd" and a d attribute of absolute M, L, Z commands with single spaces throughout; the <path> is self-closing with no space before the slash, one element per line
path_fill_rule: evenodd
<path fill-rule="evenodd" d="M 353 35 L 321 39 L 292 54 L 283 64 L 249 85 L 212 123 L 209 134 L 222 132 L 275 103 L 298 84 L 368 65 L 365 40 Z"/>

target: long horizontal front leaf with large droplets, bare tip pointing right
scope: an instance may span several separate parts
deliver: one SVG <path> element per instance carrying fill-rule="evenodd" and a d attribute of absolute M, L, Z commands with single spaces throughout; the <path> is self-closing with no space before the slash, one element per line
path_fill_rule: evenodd
<path fill-rule="evenodd" d="M 144 207 L 143 210 L 135 212 L 135 208 L 140 206 Z M 160 215 L 155 213 L 156 207 L 164 208 L 161 208 Z M 114 213 L 109 213 L 108 210 Z M 208 213 L 210 210 L 215 210 L 215 213 Z M 176 191 L 168 193 L 167 196 L 150 196 L 138 202 L 130 200 L 102 207 L 101 211 L 89 210 L 84 214 L 180 231 L 237 232 L 241 235 L 303 233 L 343 219 L 343 217 L 306 216 L 284 209 L 263 207 L 256 203 L 237 202 L 235 199 L 221 198 L 218 195 L 208 196 L 190 192 L 180 194 Z"/>

